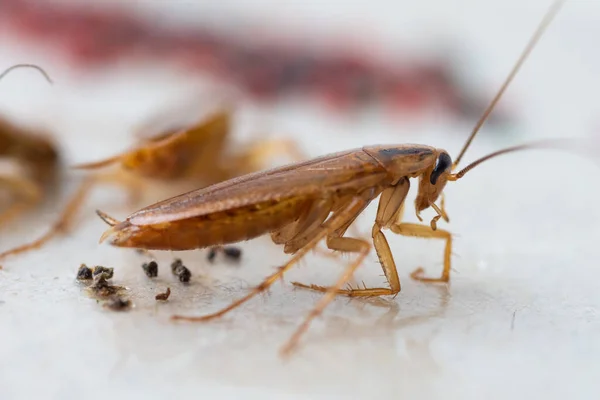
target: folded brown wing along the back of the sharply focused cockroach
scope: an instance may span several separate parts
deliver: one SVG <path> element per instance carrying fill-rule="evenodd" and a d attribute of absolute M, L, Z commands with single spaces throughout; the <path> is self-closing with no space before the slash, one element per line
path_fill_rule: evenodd
<path fill-rule="evenodd" d="M 355 149 L 191 191 L 143 208 L 127 220 L 134 225 L 152 225 L 297 196 L 358 193 L 387 178 L 387 171 L 372 156 Z"/>

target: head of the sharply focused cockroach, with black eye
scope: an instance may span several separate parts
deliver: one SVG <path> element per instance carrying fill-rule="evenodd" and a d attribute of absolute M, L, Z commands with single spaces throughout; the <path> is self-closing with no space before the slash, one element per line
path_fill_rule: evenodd
<path fill-rule="evenodd" d="M 452 158 L 445 150 L 440 150 L 435 164 L 419 177 L 419 192 L 415 199 L 417 212 L 423 211 L 437 200 L 444 190 L 452 171 Z"/>

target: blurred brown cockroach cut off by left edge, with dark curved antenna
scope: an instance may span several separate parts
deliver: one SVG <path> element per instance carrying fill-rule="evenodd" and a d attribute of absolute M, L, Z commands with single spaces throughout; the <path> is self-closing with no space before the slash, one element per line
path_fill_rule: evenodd
<path fill-rule="evenodd" d="M 17 68 L 34 68 L 52 83 L 34 64 L 15 64 L 0 74 L 0 80 Z M 46 197 L 55 186 L 59 166 L 59 152 L 49 133 L 0 117 L 0 226 Z"/>

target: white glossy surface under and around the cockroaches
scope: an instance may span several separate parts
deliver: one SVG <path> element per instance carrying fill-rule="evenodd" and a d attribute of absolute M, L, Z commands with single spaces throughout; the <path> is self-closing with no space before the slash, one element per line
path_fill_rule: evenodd
<path fill-rule="evenodd" d="M 300 22 L 318 15 L 333 26 L 360 10 L 390 43 L 406 32 L 421 37 L 431 26 L 452 29 L 475 60 L 473 79 L 489 91 L 504 79 L 547 6 L 461 1 L 461 8 L 451 10 L 437 1 L 394 8 L 390 4 L 396 3 L 383 0 L 368 8 L 361 2 L 245 3 L 250 14 L 270 12 Z M 519 106 L 519 124 L 511 132 L 484 129 L 467 161 L 509 142 L 592 133 L 599 115 L 594 39 L 600 34 L 599 11 L 596 2 L 567 3 L 507 92 L 506 101 Z M 0 83 L 0 105 L 15 118 L 51 125 L 65 139 L 69 162 L 122 150 L 133 140 L 127 136 L 133 124 L 186 88 L 183 80 L 156 71 L 137 78 L 123 72 L 98 87 L 70 80 L 49 58 L 38 59 L 27 48 L 6 43 L 1 48 L 3 65 L 46 61 L 53 72 L 54 87 L 33 73 L 15 73 Z M 265 121 L 274 131 L 296 135 L 311 155 L 395 142 L 433 144 L 455 154 L 472 125 L 450 125 L 435 116 L 419 126 L 377 117 L 341 121 L 280 107 L 245 109 L 239 126 L 252 131 Z M 502 135 L 507 139 L 499 139 Z M 168 321 L 174 312 L 201 314 L 242 295 L 285 260 L 278 248 L 266 239 L 246 243 L 240 267 L 210 266 L 203 252 L 185 253 L 194 274 L 189 287 L 170 275 L 172 255 L 164 254 L 159 278 L 149 281 L 139 267 L 141 257 L 97 245 L 105 226 L 93 210 L 118 218 L 131 211 L 119 206 L 125 204 L 121 192 L 98 189 L 72 235 L 4 263 L 0 398 L 597 398 L 598 172 L 589 160 L 540 151 L 498 159 L 448 184 L 448 229 L 457 234 L 451 285 L 430 287 L 408 277 L 419 265 L 437 274 L 442 243 L 388 234 L 403 284 L 400 295 L 382 306 L 337 299 L 287 363 L 277 357 L 278 347 L 317 294 L 276 285 L 269 296 L 222 321 Z M 374 206 L 359 221 L 365 232 Z M 42 232 L 56 209 L 49 206 L 3 230 L 2 248 Z M 407 216 L 415 220 L 412 213 Z M 371 254 L 357 280 L 381 283 L 375 259 Z M 108 312 L 88 298 L 74 280 L 81 262 L 114 267 L 115 283 L 131 288 L 136 308 Z M 311 256 L 286 281 L 326 284 L 340 271 Z M 171 300 L 155 304 L 154 295 L 166 286 L 173 290 Z"/>

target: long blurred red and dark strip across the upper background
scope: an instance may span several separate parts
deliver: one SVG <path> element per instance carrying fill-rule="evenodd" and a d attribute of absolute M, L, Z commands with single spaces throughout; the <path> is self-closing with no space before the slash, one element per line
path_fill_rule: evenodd
<path fill-rule="evenodd" d="M 203 30 L 151 25 L 118 10 L 29 0 L 2 0 L 0 23 L 62 51 L 82 68 L 125 58 L 172 61 L 233 83 L 261 101 L 312 94 L 340 111 L 379 102 L 403 113 L 435 107 L 469 118 L 487 103 L 452 79 L 447 62 L 390 66 L 355 54 L 318 57 L 281 44 L 250 46 Z"/>

